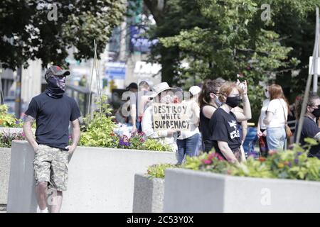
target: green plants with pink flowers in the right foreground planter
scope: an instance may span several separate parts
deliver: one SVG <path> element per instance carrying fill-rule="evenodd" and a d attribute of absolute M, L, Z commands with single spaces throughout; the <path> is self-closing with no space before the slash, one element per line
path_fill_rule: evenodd
<path fill-rule="evenodd" d="M 310 148 L 316 145 L 316 140 L 306 140 Z M 203 154 L 199 157 L 187 157 L 182 165 L 185 169 L 215 172 L 239 177 L 260 177 L 278 179 L 302 179 L 320 181 L 320 160 L 307 157 L 308 150 L 294 145 L 293 150 L 284 152 L 270 151 L 270 155 L 255 159 L 248 157 L 239 165 L 227 162 L 217 153 Z"/>

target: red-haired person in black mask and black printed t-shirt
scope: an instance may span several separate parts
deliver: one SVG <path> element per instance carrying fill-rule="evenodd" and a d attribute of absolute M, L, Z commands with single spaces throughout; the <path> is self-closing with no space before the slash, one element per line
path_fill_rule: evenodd
<path fill-rule="evenodd" d="M 241 145 L 241 138 L 237 122 L 251 118 L 251 107 L 247 96 L 247 82 L 241 84 L 242 89 L 235 83 L 223 84 L 219 91 L 219 99 L 223 105 L 215 111 L 210 119 L 212 130 L 211 140 L 215 152 L 223 155 L 229 162 L 245 162 L 245 152 Z M 243 113 L 231 111 L 243 101 Z M 214 128 L 214 130 L 213 130 Z"/>

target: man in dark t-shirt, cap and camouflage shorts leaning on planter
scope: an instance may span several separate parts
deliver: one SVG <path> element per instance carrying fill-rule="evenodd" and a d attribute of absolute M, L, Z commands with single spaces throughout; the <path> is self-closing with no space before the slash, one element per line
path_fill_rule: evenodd
<path fill-rule="evenodd" d="M 23 132 L 35 151 L 33 169 L 36 178 L 36 195 L 41 213 L 59 212 L 63 191 L 67 189 L 68 157 L 74 152 L 80 139 L 80 111 L 75 100 L 65 95 L 65 76 L 70 72 L 58 66 L 50 67 L 45 74 L 46 91 L 33 97 L 28 110 Z M 36 138 L 31 126 L 36 121 Z M 73 123 L 73 144 L 69 144 L 68 128 Z M 47 204 L 47 190 L 53 194 L 54 204 Z"/>

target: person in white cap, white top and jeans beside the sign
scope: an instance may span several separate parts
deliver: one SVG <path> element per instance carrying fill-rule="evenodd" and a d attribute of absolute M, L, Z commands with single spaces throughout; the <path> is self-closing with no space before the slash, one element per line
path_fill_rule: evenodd
<path fill-rule="evenodd" d="M 201 92 L 201 88 L 198 86 L 192 86 L 189 89 L 189 92 L 191 93 L 190 100 L 183 101 L 183 103 L 188 105 L 188 116 L 190 116 L 190 130 L 181 131 L 181 134 L 176 141 L 178 145 L 178 165 L 182 164 L 185 155 L 188 155 L 190 157 L 195 155 L 200 136 L 198 128 L 200 114 L 198 96 Z"/>

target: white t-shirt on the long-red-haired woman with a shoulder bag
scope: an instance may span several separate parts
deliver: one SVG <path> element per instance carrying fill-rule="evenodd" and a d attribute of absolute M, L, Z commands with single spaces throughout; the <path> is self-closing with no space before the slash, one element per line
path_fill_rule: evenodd
<path fill-rule="evenodd" d="M 284 99 L 273 99 L 270 101 L 267 111 L 273 114 L 270 124 L 267 128 L 284 127 L 284 123 L 288 116 L 288 107 Z"/>

